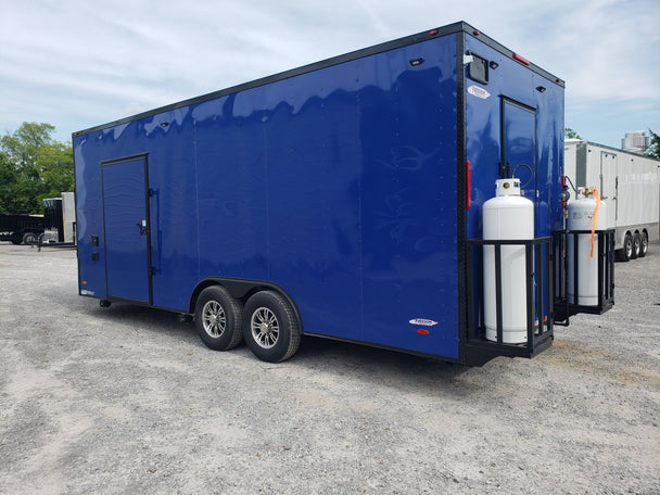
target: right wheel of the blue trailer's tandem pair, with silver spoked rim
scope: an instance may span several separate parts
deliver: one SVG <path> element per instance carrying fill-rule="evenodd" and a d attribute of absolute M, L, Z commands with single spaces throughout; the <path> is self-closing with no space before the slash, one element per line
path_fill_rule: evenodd
<path fill-rule="evenodd" d="M 256 357 L 280 363 L 295 354 L 302 330 L 291 305 L 279 293 L 262 291 L 245 304 L 243 337 Z"/>

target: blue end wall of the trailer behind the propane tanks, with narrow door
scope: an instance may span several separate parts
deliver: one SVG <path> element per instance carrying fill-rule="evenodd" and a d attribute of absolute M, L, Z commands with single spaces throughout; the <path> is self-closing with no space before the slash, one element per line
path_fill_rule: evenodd
<path fill-rule="evenodd" d="M 496 64 L 487 85 L 466 79 L 468 239 L 481 237 L 481 206 L 494 195 L 500 165 L 521 179 L 524 195 L 535 203 L 535 236 L 550 236 L 562 228 L 563 84 L 531 72 L 479 37 L 466 38 L 466 51 Z"/>

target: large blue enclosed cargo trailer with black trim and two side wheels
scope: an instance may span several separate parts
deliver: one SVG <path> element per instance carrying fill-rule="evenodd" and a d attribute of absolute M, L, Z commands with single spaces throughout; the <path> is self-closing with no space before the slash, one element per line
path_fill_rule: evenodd
<path fill-rule="evenodd" d="M 302 334 L 531 357 L 553 337 L 563 88 L 456 23 L 75 132 L 80 294 L 274 361 Z M 481 309 L 481 206 L 513 175 L 534 203 L 524 344 L 486 341 Z"/>

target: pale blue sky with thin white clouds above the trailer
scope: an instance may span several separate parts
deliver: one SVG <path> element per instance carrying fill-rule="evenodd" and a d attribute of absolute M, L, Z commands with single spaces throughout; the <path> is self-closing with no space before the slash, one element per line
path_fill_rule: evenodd
<path fill-rule="evenodd" d="M 658 0 L 0 0 L 0 135 L 55 138 L 466 21 L 567 81 L 566 124 L 660 132 Z"/>

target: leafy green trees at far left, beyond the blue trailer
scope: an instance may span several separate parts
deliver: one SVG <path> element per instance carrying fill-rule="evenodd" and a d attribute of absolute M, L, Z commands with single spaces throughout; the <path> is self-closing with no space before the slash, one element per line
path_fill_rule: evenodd
<path fill-rule="evenodd" d="M 72 147 L 55 141 L 54 130 L 25 122 L 0 138 L 0 212 L 42 213 L 43 198 L 73 191 Z"/>

